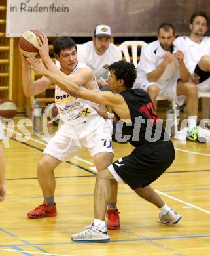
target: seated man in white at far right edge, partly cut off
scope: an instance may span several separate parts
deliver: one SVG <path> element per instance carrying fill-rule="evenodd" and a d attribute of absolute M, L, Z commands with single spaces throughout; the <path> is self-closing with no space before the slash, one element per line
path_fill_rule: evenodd
<path fill-rule="evenodd" d="M 184 62 L 190 71 L 192 83 L 200 91 L 210 91 L 210 37 L 205 12 L 196 12 L 190 18 L 190 36 L 177 37 L 174 45 L 183 51 Z"/>

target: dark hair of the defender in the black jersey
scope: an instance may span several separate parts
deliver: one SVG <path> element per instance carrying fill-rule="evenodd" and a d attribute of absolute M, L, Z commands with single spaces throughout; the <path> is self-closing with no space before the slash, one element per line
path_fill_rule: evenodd
<path fill-rule="evenodd" d="M 109 66 L 109 71 L 113 71 L 116 75 L 116 79 L 122 79 L 126 88 L 133 87 L 133 83 L 136 79 L 136 68 L 130 62 L 118 61 Z"/>

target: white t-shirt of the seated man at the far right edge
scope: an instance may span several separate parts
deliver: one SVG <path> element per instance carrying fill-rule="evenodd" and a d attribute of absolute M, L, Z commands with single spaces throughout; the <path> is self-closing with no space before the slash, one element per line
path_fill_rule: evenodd
<path fill-rule="evenodd" d="M 190 37 L 177 37 L 173 45 L 184 53 L 184 63 L 190 73 L 204 55 L 210 55 L 210 37 L 203 37 L 201 43 L 195 43 Z"/>

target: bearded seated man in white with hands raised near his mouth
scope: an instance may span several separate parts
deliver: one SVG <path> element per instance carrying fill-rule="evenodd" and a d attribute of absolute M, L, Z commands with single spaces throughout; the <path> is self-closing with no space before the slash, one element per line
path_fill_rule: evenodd
<path fill-rule="evenodd" d="M 141 60 L 137 66 L 135 88 L 140 87 L 149 93 L 154 105 L 160 94 L 173 98 L 182 105 L 186 100 L 188 115 L 188 133 L 191 140 L 194 131 L 196 142 L 205 142 L 196 128 L 198 116 L 198 93 L 196 85 L 187 83 L 190 73 L 184 64 L 182 51 L 173 49 L 175 29 L 172 24 L 163 23 L 158 28 L 158 40 L 143 47 Z"/>

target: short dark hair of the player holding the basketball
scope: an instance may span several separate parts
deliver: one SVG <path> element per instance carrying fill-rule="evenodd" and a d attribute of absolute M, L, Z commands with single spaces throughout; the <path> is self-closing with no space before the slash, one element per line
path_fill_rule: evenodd
<path fill-rule="evenodd" d="M 61 50 L 70 49 L 71 47 L 75 47 L 77 51 L 77 45 L 71 37 L 58 37 L 53 43 L 54 53 L 60 55 Z"/>

